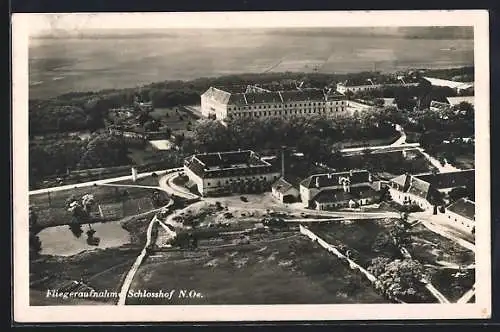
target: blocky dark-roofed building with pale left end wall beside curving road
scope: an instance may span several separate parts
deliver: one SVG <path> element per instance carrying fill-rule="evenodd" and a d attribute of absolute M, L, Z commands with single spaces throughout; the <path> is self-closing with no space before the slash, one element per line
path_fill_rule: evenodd
<path fill-rule="evenodd" d="M 281 175 L 250 150 L 196 154 L 184 171 L 203 196 L 263 192 Z"/>

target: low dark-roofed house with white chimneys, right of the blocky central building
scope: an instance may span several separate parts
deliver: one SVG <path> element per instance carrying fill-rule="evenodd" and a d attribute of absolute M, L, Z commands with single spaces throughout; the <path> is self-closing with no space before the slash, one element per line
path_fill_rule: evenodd
<path fill-rule="evenodd" d="M 366 170 L 314 174 L 301 181 L 300 198 L 305 207 L 315 209 L 366 205 L 379 197 L 373 184 Z"/>

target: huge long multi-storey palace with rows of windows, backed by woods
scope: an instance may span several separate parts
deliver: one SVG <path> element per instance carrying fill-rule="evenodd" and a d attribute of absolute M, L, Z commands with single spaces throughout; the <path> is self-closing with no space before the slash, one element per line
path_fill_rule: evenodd
<path fill-rule="evenodd" d="M 346 110 L 346 98 L 333 90 L 270 91 L 257 86 L 247 86 L 243 93 L 231 93 L 210 87 L 201 95 L 202 115 L 218 120 L 228 117 L 328 115 Z"/>

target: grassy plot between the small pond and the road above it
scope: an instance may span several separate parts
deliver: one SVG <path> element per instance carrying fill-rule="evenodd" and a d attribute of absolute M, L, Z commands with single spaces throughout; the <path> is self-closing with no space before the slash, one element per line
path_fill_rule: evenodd
<path fill-rule="evenodd" d="M 124 196 L 125 191 L 128 196 Z M 64 225 L 71 222 L 71 213 L 66 210 L 65 200 L 71 195 L 80 198 L 92 194 L 96 204 L 91 216 L 96 220 L 117 220 L 154 209 L 151 200 L 153 192 L 154 189 L 148 188 L 92 186 L 55 191 L 50 193 L 50 200 L 48 194 L 31 195 L 30 205 L 38 214 L 38 222 L 42 227 Z M 166 195 L 162 191 L 160 193 Z"/>

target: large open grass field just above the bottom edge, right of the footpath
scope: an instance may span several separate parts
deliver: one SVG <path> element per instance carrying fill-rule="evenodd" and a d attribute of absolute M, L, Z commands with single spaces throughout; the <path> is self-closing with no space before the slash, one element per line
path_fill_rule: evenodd
<path fill-rule="evenodd" d="M 300 236 L 162 255 L 141 266 L 131 289 L 194 289 L 204 298 L 128 304 L 387 303 L 361 275 Z"/>

